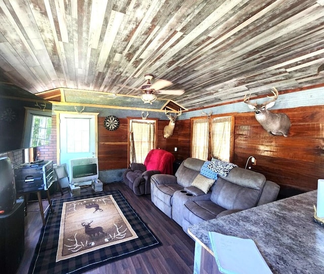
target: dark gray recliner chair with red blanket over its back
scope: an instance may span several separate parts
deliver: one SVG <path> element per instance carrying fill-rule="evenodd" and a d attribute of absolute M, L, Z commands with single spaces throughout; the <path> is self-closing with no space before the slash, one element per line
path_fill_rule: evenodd
<path fill-rule="evenodd" d="M 172 153 L 161 150 L 151 150 L 141 163 L 131 163 L 124 172 L 124 182 L 136 195 L 150 194 L 150 180 L 153 174 L 172 174 L 175 157 Z"/>

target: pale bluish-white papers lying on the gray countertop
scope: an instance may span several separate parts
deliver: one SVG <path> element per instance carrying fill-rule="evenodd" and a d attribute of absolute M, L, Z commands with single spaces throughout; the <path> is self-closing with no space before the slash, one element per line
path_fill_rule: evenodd
<path fill-rule="evenodd" d="M 271 274 L 258 247 L 251 239 L 209 232 L 218 269 L 224 274 Z"/>

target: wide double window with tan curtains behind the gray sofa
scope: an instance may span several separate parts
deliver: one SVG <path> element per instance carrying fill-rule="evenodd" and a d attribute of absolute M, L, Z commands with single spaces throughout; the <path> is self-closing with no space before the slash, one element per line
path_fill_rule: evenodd
<path fill-rule="evenodd" d="M 208 160 L 231 160 L 232 117 L 192 119 L 191 157 Z"/>

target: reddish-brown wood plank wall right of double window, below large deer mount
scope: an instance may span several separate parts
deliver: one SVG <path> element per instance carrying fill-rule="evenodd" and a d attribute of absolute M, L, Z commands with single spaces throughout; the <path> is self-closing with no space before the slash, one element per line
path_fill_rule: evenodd
<path fill-rule="evenodd" d="M 309 191 L 324 178 L 324 106 L 282 109 L 292 122 L 290 135 L 273 136 L 257 122 L 254 113 L 235 115 L 234 163 L 263 173 L 281 188 Z M 251 165 L 250 165 L 251 166 Z"/>

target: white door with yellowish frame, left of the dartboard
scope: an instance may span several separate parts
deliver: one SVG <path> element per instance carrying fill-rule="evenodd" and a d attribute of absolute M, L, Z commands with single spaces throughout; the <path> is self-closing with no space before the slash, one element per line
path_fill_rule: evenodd
<path fill-rule="evenodd" d="M 97 115 L 59 114 L 60 164 L 70 159 L 97 156 Z"/>

